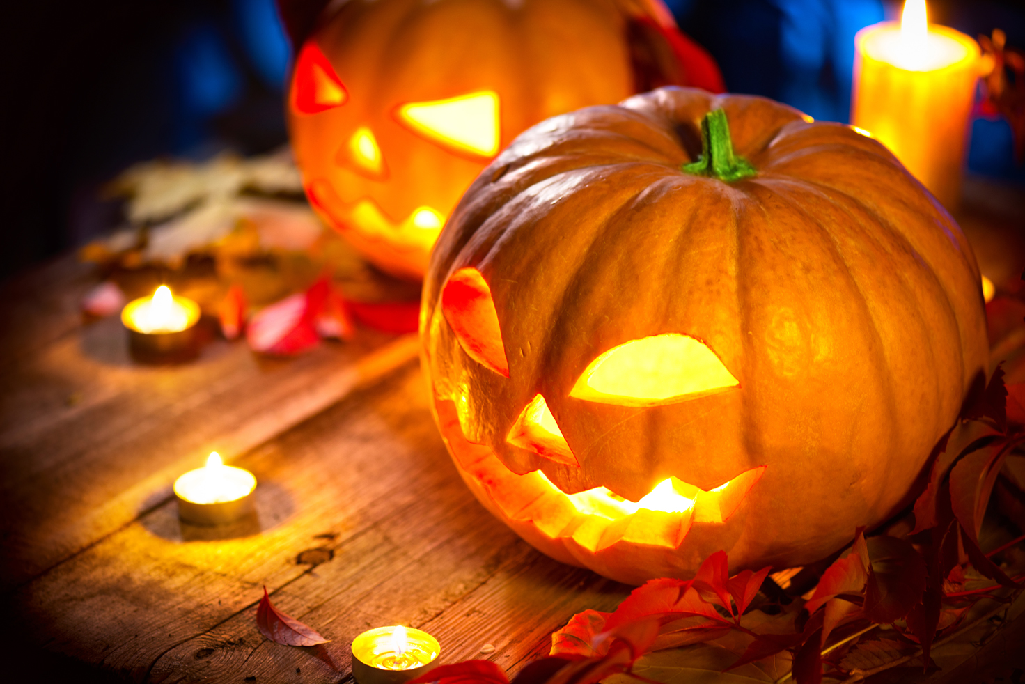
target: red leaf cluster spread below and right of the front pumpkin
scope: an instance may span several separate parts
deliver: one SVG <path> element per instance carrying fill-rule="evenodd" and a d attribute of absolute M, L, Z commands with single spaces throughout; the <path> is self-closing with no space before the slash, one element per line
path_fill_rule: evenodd
<path fill-rule="evenodd" d="M 768 597 L 781 590 L 768 578 L 770 568 L 730 576 L 720 551 L 693 579 L 652 579 L 612 612 L 574 615 L 551 635 L 551 655 L 524 668 L 511 684 L 592 684 L 616 673 L 644 680 L 632 671 L 645 653 L 702 642 L 736 653 L 730 670 L 778 661 L 770 658 L 788 652 L 796 684 L 861 677 L 916 654 L 928 668 L 932 644 L 958 629 L 969 607 L 1001 587 L 1021 587 L 991 558 L 1011 545 L 989 554 L 979 547 L 1001 466 L 1025 443 L 1025 386 L 1006 388 L 1002 377 L 997 369 L 988 383 L 976 381 L 957 423 L 934 449 L 929 485 L 914 505 L 914 529 L 871 536 L 855 530 L 853 544 L 820 571 L 807 600 L 774 605 Z M 976 588 L 968 589 L 972 568 L 992 584 L 973 580 Z M 883 625 L 894 628 L 888 638 L 861 641 Z M 420 681 L 508 684 L 481 660 L 439 668 Z"/>

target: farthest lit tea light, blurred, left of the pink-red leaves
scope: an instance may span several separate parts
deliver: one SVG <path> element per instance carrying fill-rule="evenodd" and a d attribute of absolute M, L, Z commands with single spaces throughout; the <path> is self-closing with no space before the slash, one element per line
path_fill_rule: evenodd
<path fill-rule="evenodd" d="M 146 361 L 183 359 L 196 352 L 199 305 L 161 285 L 152 297 L 132 299 L 121 310 L 133 356 Z"/>

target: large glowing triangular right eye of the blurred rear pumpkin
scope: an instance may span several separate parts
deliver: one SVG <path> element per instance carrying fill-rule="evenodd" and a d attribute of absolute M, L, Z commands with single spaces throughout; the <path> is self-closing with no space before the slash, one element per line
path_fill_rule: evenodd
<path fill-rule="evenodd" d="M 481 157 L 498 153 L 498 93 L 493 90 L 410 103 L 401 106 L 396 116 L 415 133 L 456 152 Z"/>

